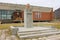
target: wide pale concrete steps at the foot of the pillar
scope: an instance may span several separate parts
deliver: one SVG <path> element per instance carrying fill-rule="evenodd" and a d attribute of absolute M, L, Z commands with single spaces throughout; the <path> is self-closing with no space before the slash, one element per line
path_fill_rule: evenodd
<path fill-rule="evenodd" d="M 21 39 L 48 37 L 58 34 L 60 34 L 60 30 L 48 27 L 33 27 L 33 28 L 20 27 L 17 32 L 18 37 Z"/>

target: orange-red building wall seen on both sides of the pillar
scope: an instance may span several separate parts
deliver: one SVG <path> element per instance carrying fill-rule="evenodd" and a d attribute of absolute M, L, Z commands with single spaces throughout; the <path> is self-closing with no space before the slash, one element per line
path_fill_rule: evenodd
<path fill-rule="evenodd" d="M 33 20 L 52 20 L 53 19 L 53 13 L 52 12 L 32 12 L 33 14 Z M 24 20 L 24 11 L 22 12 L 22 18 Z"/>

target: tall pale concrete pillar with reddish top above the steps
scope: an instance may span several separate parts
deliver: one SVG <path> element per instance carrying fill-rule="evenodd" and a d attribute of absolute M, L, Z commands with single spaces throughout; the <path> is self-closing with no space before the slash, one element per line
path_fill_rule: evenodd
<path fill-rule="evenodd" d="M 30 28 L 33 26 L 33 18 L 32 18 L 32 9 L 30 5 L 27 4 L 26 9 L 24 10 L 24 27 Z"/>

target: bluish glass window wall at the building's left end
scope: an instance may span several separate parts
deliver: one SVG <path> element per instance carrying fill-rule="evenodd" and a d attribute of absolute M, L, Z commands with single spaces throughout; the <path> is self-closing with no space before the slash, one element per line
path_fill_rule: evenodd
<path fill-rule="evenodd" d="M 11 19 L 13 10 L 0 10 L 0 20 L 2 19 Z"/>

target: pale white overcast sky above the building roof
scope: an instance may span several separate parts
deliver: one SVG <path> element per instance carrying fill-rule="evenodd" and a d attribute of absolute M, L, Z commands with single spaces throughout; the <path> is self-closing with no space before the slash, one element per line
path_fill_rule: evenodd
<path fill-rule="evenodd" d="M 60 0 L 0 0 L 4 3 L 31 4 L 35 6 L 52 7 L 54 10 L 60 7 Z"/>

